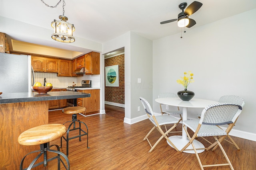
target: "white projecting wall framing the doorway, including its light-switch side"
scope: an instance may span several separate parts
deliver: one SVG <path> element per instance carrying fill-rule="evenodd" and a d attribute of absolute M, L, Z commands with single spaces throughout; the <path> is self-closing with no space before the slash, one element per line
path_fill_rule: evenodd
<path fill-rule="evenodd" d="M 103 44 L 102 54 L 124 47 L 125 76 L 125 117 L 124 122 L 136 123 L 144 119 L 145 111 L 139 97 L 142 96 L 152 104 L 152 41 L 133 32 L 125 33 Z M 104 61 L 102 55 L 101 61 Z M 104 62 L 101 62 L 101 75 L 104 80 Z M 137 83 L 141 78 L 141 83 Z M 102 81 L 104 87 L 104 81 Z M 103 88 L 102 88 L 103 89 Z M 104 104 L 102 91 L 102 103 Z M 138 106 L 141 110 L 138 111 Z M 140 117 L 140 118 L 137 118 Z M 146 118 L 146 117 L 145 117 Z"/>

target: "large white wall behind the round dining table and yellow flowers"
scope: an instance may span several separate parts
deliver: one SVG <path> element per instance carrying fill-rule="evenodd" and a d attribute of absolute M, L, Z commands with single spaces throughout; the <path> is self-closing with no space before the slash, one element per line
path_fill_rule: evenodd
<path fill-rule="evenodd" d="M 233 129 L 256 133 L 256 9 L 183 33 L 153 41 L 153 100 L 160 92 L 178 92 L 183 72 L 194 73 L 188 90 L 195 98 L 216 100 L 223 95 L 244 98 L 246 104 Z M 153 109 L 160 112 L 154 102 Z M 197 118 L 202 109 L 188 109 Z"/>

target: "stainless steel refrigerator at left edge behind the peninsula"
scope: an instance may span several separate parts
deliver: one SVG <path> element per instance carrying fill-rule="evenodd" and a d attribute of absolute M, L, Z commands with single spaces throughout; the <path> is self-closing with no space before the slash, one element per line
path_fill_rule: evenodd
<path fill-rule="evenodd" d="M 30 55 L 0 53 L 0 92 L 31 92 L 32 70 Z"/>

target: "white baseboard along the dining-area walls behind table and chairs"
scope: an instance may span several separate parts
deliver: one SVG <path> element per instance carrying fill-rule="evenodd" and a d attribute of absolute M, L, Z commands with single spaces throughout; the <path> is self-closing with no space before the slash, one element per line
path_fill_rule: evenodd
<path fill-rule="evenodd" d="M 155 115 L 161 115 L 161 113 L 154 113 L 154 114 Z M 179 117 L 176 117 L 176 118 L 178 120 L 180 119 Z M 148 119 L 148 116 L 146 114 L 142 115 L 142 116 L 139 116 L 139 117 L 132 118 L 132 119 L 128 119 L 128 118 L 124 117 L 124 123 L 128 123 L 128 124 L 132 125 L 134 123 L 137 123 L 137 122 L 145 120 L 145 119 Z M 190 118 L 188 118 L 188 119 L 190 119 Z M 180 121 L 180 123 L 182 123 L 182 122 Z M 226 127 L 221 127 L 221 128 L 224 129 L 224 130 L 227 129 Z M 240 131 L 240 130 L 232 129 L 230 131 L 229 135 L 234 136 L 234 137 L 240 137 L 242 139 L 247 139 L 247 140 L 250 140 L 250 141 L 256 141 L 256 133 L 250 133 L 250 132 L 246 132 L 246 131 Z"/>

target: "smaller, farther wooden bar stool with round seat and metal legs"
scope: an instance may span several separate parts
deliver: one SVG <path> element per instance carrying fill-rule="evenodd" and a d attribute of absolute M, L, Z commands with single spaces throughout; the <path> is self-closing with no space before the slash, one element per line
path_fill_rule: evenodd
<path fill-rule="evenodd" d="M 74 139 L 74 138 L 77 138 L 79 137 L 79 141 L 81 141 L 81 137 L 84 136 L 84 135 L 87 135 L 87 148 L 89 149 L 90 147 L 88 147 L 88 127 L 87 125 L 80 121 L 80 120 L 77 120 L 77 113 L 83 113 L 84 111 L 86 111 L 85 107 L 81 107 L 81 106 L 74 106 L 74 107 L 66 107 L 64 109 L 62 109 L 62 112 L 65 113 L 65 114 L 72 114 L 72 121 L 67 121 L 65 123 L 68 123 L 68 122 L 72 122 L 70 123 L 70 125 L 68 126 L 68 130 L 67 130 L 67 136 L 64 137 L 62 136 L 60 138 L 60 147 L 62 147 L 62 138 L 66 141 L 67 143 L 67 156 L 68 156 L 68 142 L 69 140 L 71 139 Z M 76 122 L 79 123 L 79 127 L 76 127 Z M 63 125 L 65 124 L 63 123 Z M 85 125 L 87 131 L 84 131 L 83 129 L 81 129 L 81 123 Z M 71 128 L 71 126 L 73 125 L 73 128 Z M 70 137 L 70 134 L 69 132 L 70 131 L 74 131 L 74 130 L 79 130 L 79 135 L 76 135 L 76 136 L 72 136 Z"/>

